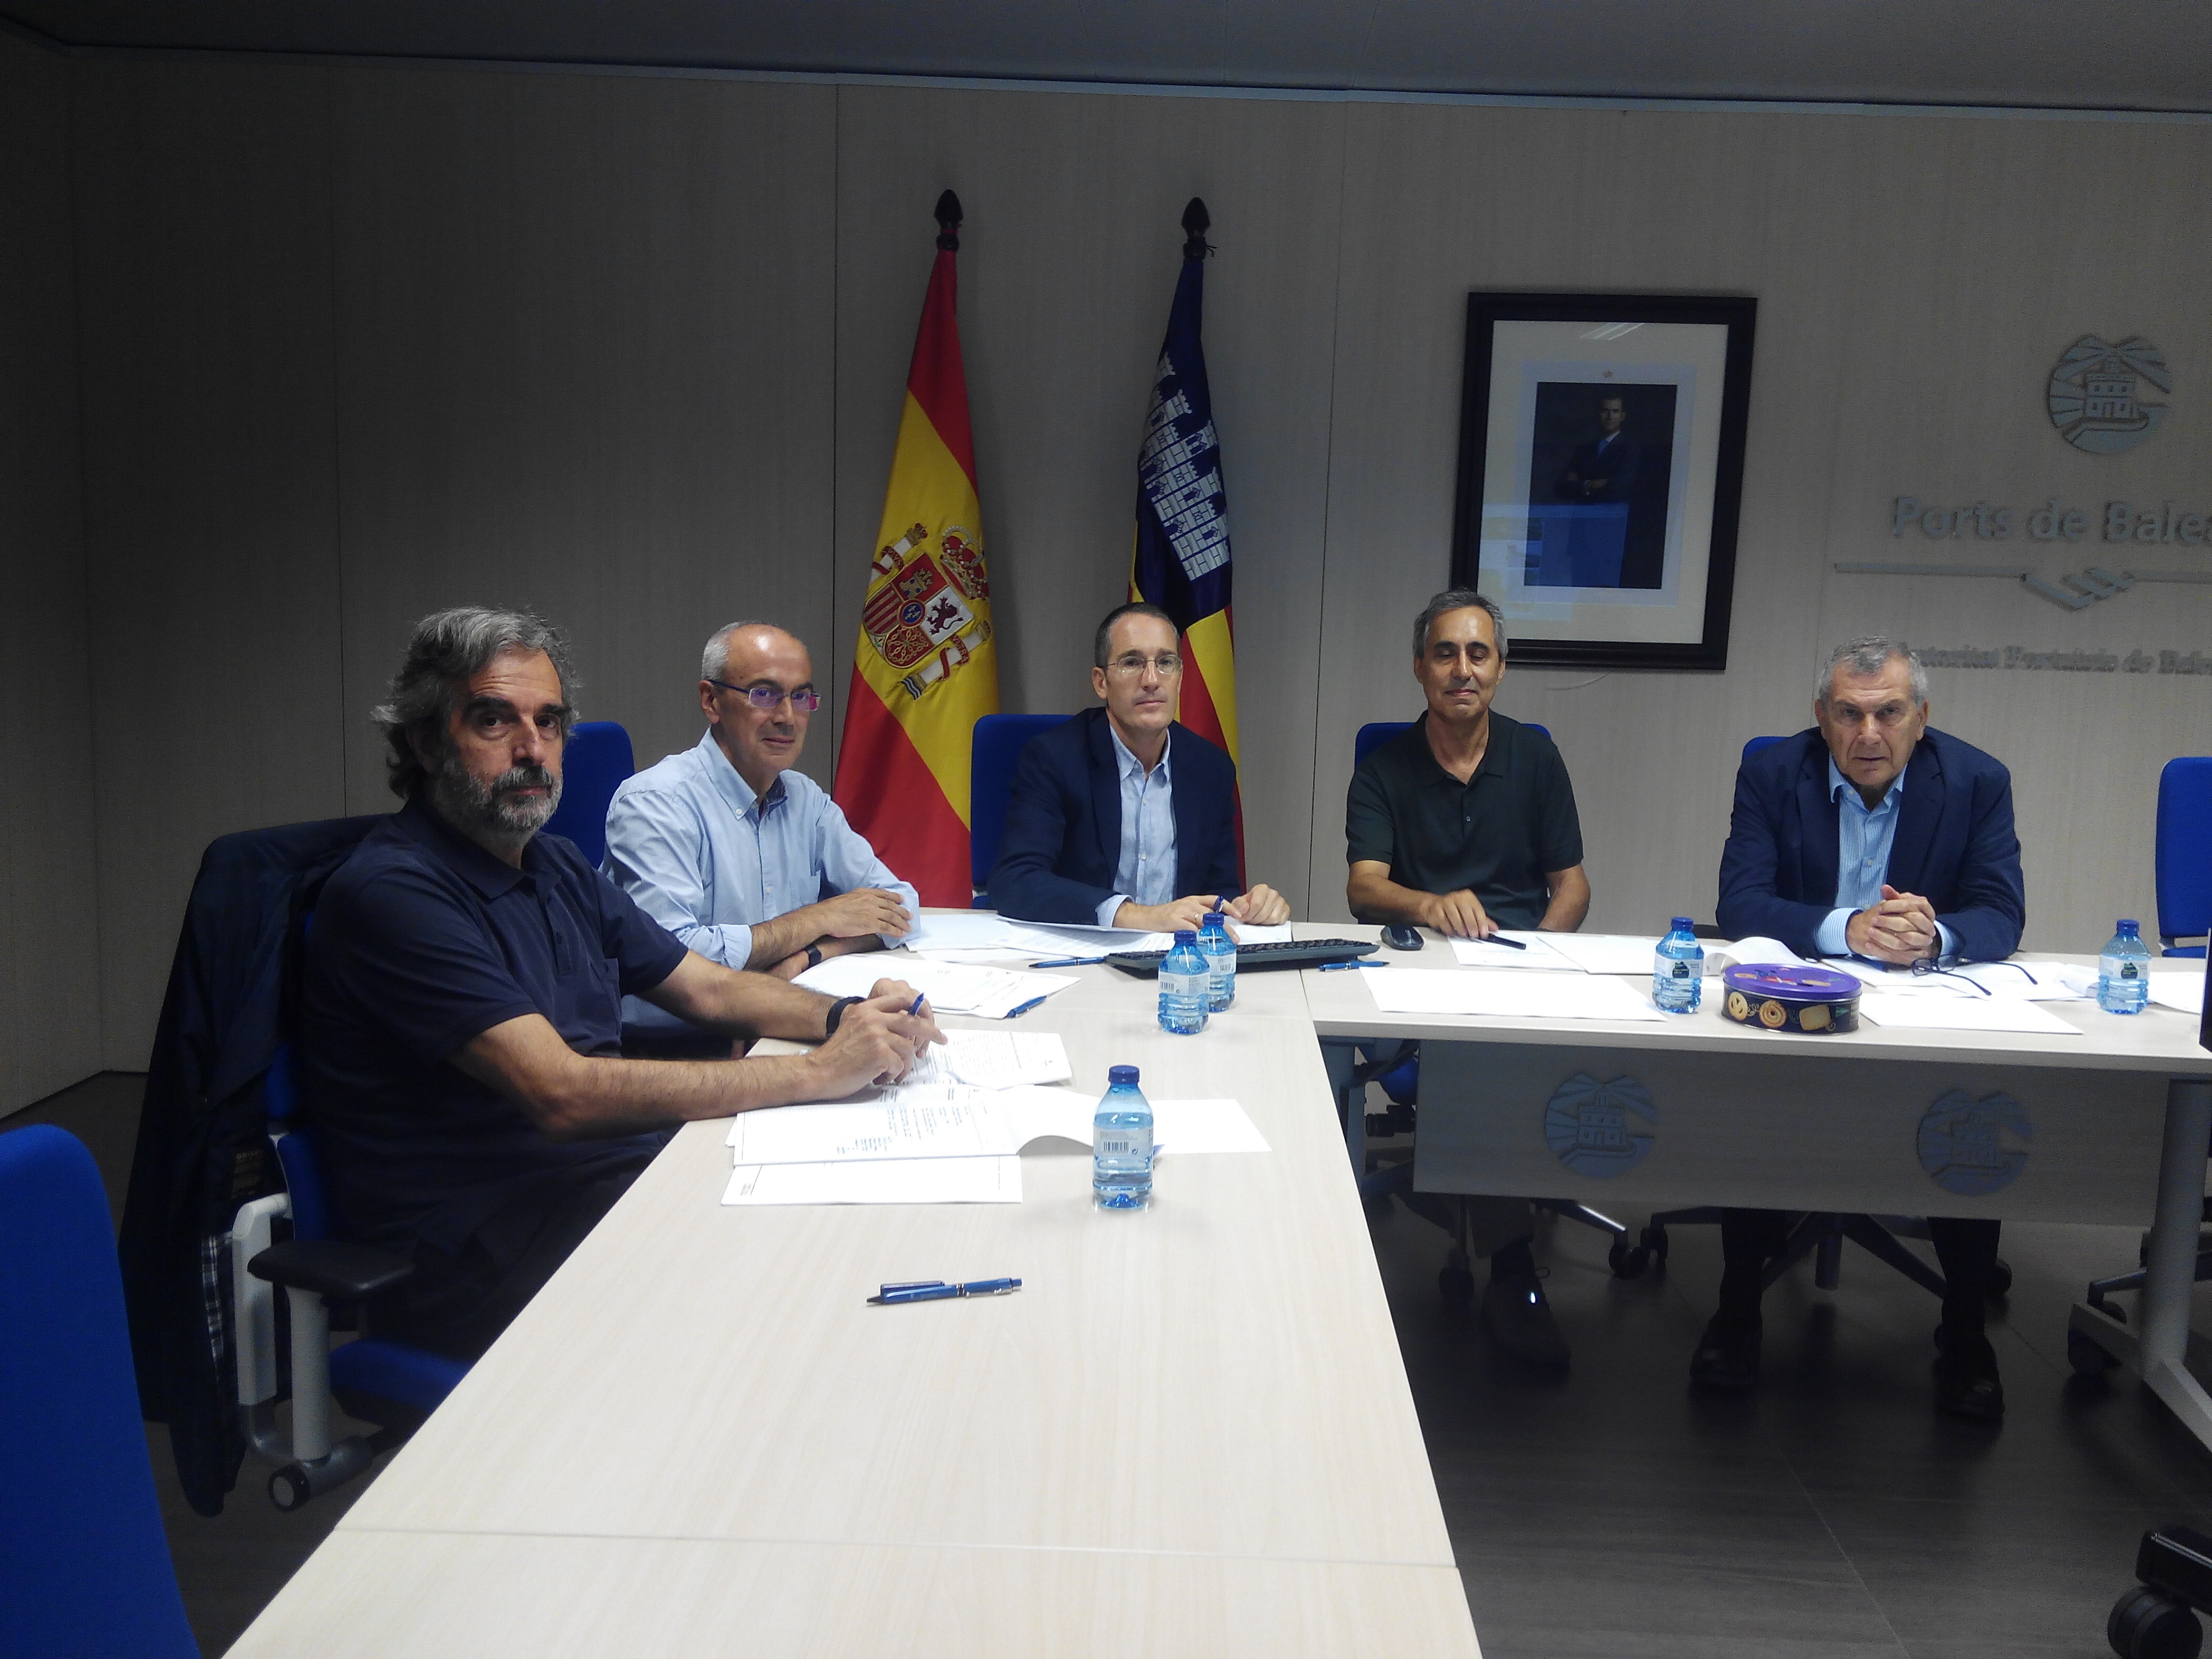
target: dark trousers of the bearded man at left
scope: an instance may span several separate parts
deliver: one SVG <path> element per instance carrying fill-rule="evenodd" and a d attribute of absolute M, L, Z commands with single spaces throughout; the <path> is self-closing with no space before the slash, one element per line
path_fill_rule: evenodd
<path fill-rule="evenodd" d="M 557 1192 L 533 1192 L 495 1212 L 458 1254 L 418 1243 L 414 1274 L 369 1305 L 369 1334 L 460 1360 L 478 1358 L 648 1161 L 650 1155 L 639 1155 L 635 1164 L 591 1170 Z"/>

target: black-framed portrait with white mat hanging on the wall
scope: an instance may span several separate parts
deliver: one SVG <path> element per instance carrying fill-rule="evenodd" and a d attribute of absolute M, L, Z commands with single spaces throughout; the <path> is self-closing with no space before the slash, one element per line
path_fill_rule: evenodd
<path fill-rule="evenodd" d="M 1517 664 L 1728 668 L 1756 299 L 1469 294 L 1453 586 Z"/>

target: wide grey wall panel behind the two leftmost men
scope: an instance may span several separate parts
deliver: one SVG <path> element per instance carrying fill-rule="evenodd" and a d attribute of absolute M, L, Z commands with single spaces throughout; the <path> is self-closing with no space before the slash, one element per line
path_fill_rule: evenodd
<path fill-rule="evenodd" d="M 533 606 L 639 763 L 699 646 L 830 635 L 834 93 L 354 69 L 336 102 L 345 752 L 407 624 Z M 827 661 L 821 661 L 827 668 Z M 823 717 L 816 717 L 823 723 Z M 830 779 L 827 737 L 805 770 Z"/>

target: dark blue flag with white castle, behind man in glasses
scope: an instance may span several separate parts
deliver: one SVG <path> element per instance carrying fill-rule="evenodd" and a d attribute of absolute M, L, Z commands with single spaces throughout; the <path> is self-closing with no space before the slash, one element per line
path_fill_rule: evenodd
<path fill-rule="evenodd" d="M 1128 597 L 1148 599 L 1183 630 L 1179 719 L 1237 759 L 1237 644 L 1230 622 L 1230 515 L 1221 489 L 1214 398 L 1206 387 L 1199 323 L 1206 307 L 1206 204 L 1183 208 L 1183 274 L 1159 345 L 1152 407 L 1137 451 L 1137 544 Z M 1243 801 L 1237 863 L 1243 865 Z"/>

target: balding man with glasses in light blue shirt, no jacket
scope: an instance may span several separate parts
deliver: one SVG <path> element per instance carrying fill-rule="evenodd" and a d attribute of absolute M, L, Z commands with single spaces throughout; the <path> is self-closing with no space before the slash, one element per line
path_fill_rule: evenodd
<path fill-rule="evenodd" d="M 615 885 L 699 956 L 785 980 L 914 931 L 914 887 L 814 779 L 792 772 L 821 708 L 805 644 L 768 622 L 719 628 L 699 664 L 699 743 L 615 790 Z M 624 1022 L 675 1029 L 635 998 Z"/>

